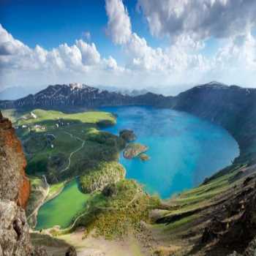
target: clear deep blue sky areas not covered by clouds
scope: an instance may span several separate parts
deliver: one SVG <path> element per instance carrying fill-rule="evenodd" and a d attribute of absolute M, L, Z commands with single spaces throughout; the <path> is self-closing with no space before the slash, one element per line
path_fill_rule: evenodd
<path fill-rule="evenodd" d="M 132 26 L 148 43 L 157 46 L 159 40 L 151 37 L 146 20 L 136 10 L 136 3 L 135 0 L 124 1 Z M 73 0 L 12 0 L 1 2 L 0 7 L 2 26 L 31 48 L 40 45 L 50 50 L 63 42 L 72 45 L 75 39 L 84 38 L 83 33 L 89 31 L 91 41 L 97 42 L 102 56 L 111 55 L 122 61 L 120 48 L 116 48 L 105 34 L 108 17 L 104 0 L 76 0 L 75 4 Z"/>

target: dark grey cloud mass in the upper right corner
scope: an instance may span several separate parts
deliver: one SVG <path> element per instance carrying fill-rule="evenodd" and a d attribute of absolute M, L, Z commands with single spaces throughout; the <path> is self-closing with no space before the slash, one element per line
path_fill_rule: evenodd
<path fill-rule="evenodd" d="M 138 0 L 155 36 L 195 39 L 244 34 L 256 22 L 255 0 Z"/>

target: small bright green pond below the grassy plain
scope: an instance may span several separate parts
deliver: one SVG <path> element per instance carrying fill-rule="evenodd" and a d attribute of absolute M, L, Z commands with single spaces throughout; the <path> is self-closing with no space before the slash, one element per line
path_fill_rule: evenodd
<path fill-rule="evenodd" d="M 85 207 L 89 197 L 89 194 L 80 192 L 76 180 L 70 181 L 57 197 L 39 209 L 36 229 L 40 230 L 55 225 L 59 225 L 61 228 L 68 227 L 75 214 Z"/>

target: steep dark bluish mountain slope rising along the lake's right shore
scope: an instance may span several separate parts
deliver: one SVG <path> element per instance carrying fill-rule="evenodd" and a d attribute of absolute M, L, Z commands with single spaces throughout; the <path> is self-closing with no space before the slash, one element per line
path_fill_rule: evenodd
<path fill-rule="evenodd" d="M 221 125 L 238 141 L 241 156 L 236 162 L 255 162 L 256 89 L 208 83 L 179 94 L 172 108 Z"/>

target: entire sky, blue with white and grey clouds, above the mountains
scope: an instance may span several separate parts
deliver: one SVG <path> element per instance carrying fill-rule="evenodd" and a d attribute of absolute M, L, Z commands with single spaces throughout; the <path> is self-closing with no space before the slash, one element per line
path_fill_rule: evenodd
<path fill-rule="evenodd" d="M 255 0 L 1 0 L 0 89 L 256 87 Z"/>

